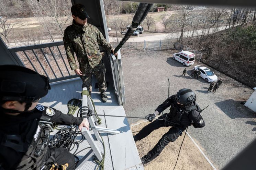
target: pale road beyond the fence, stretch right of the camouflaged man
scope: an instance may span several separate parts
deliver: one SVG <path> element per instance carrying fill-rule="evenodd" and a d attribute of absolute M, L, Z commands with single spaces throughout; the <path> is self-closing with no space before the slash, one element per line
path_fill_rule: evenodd
<path fill-rule="evenodd" d="M 210 28 L 209 29 L 209 34 L 212 34 L 214 31 L 218 32 L 218 31 L 222 31 L 226 28 L 226 26 L 221 26 L 221 27 L 216 27 L 216 28 Z M 192 37 L 193 36 L 197 36 L 197 35 L 201 35 L 202 32 L 205 32 L 207 34 L 207 30 L 202 30 L 202 29 L 198 29 L 196 31 L 185 31 L 183 34 L 183 37 Z M 160 40 L 160 39 L 172 39 L 172 38 L 176 38 L 177 34 L 180 35 L 179 33 L 168 33 L 168 34 L 161 34 L 161 35 L 151 35 L 151 36 L 145 36 L 145 37 L 135 37 L 135 36 L 131 36 L 126 42 L 142 42 L 144 40 L 146 41 L 156 41 L 156 40 Z M 109 37 L 110 42 L 116 42 L 116 38 L 115 37 Z M 119 41 L 121 41 L 122 38 L 119 38 Z"/>

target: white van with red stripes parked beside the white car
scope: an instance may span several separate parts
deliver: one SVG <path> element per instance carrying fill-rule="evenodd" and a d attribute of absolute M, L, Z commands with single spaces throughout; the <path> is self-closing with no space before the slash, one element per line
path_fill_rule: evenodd
<path fill-rule="evenodd" d="M 195 54 L 189 51 L 180 51 L 172 55 L 172 59 L 181 62 L 183 65 L 193 65 L 195 60 Z"/>

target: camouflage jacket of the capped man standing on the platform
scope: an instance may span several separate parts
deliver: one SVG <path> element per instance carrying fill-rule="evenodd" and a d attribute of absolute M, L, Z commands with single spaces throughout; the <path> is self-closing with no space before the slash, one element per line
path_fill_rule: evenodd
<path fill-rule="evenodd" d="M 108 51 L 114 49 L 95 26 L 88 23 L 84 26 L 77 25 L 74 20 L 65 29 L 63 42 L 71 70 L 78 69 L 75 52 L 82 72 L 93 70 L 101 63 L 99 45 Z"/>

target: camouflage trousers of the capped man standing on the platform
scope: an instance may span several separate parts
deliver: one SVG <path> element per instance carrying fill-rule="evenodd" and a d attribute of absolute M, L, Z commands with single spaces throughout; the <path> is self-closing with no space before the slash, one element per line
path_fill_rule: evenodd
<path fill-rule="evenodd" d="M 92 80 L 92 75 L 94 75 L 96 80 L 98 81 L 99 92 L 101 93 L 105 92 L 107 90 L 105 73 L 106 73 L 106 68 L 103 63 L 99 64 L 99 66 L 97 66 L 97 68 L 94 68 L 93 70 L 83 70 L 82 76 L 80 76 L 83 82 L 82 88 L 86 87 L 88 91 L 90 92 L 92 91 L 91 80 Z"/>

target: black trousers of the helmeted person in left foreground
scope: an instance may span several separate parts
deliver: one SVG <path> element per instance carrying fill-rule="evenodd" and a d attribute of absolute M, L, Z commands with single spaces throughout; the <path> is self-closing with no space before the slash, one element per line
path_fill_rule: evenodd
<path fill-rule="evenodd" d="M 46 162 L 54 162 L 57 165 L 65 165 L 68 163 L 67 170 L 75 169 L 75 156 L 64 148 L 49 148 Z"/>

